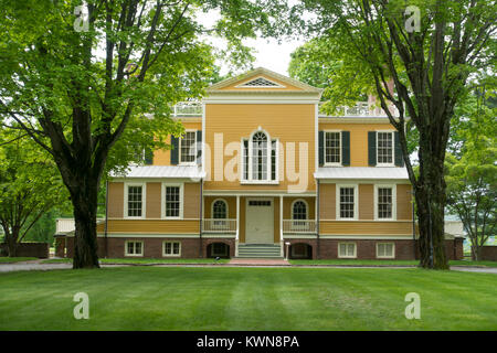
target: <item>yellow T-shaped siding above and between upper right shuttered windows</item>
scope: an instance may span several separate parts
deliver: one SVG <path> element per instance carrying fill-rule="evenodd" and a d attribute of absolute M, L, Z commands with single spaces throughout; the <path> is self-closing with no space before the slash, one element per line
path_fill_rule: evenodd
<path fill-rule="evenodd" d="M 394 130 L 385 124 L 335 124 L 320 121 L 319 130 L 350 131 L 350 167 L 368 167 L 368 131 Z"/>

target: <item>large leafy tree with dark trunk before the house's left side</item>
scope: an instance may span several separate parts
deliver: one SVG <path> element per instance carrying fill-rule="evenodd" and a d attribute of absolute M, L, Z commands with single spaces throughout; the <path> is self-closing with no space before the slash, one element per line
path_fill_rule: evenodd
<path fill-rule="evenodd" d="M 166 147 L 167 135 L 181 133 L 171 107 L 198 97 L 213 65 L 201 35 L 223 36 L 228 52 L 243 54 L 241 39 L 255 29 L 271 33 L 279 23 L 272 18 L 284 12 L 276 0 L 0 4 L 0 116 L 57 165 L 74 208 L 74 268 L 98 267 L 97 194 L 106 165 L 126 164 L 128 146 Z M 214 10 L 219 20 L 207 29 L 198 15 Z"/>

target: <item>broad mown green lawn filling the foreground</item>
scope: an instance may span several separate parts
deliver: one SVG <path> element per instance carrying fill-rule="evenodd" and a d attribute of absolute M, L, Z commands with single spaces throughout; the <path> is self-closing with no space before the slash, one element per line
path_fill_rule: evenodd
<path fill-rule="evenodd" d="M 495 330 L 491 274 L 127 267 L 0 274 L 0 330 Z M 89 320 L 73 296 L 89 296 Z M 421 320 L 408 320 L 408 292 Z"/>

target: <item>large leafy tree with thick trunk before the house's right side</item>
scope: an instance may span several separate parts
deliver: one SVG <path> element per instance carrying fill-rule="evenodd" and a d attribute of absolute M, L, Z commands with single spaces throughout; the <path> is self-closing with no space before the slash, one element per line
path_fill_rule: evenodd
<path fill-rule="evenodd" d="M 302 7 L 316 14 L 307 29 L 317 33 L 318 41 L 332 43 L 373 78 L 381 107 L 399 131 L 414 189 L 420 266 L 445 269 L 444 160 L 451 119 L 467 94 L 468 79 L 495 72 L 497 6 L 484 0 L 409 4 L 403 0 L 304 0 Z M 389 104 L 399 117 L 390 113 Z M 409 159 L 408 118 L 419 132 L 417 175 Z"/>

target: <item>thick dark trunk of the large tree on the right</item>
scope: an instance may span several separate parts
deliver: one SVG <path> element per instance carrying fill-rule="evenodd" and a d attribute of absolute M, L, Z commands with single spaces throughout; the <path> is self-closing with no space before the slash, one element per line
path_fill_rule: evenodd
<path fill-rule="evenodd" d="M 423 151 L 425 149 L 421 146 L 420 179 L 414 188 L 420 231 L 420 267 L 448 269 L 445 254 L 444 208 L 446 184 L 443 160 L 433 154 L 423 153 Z"/>

